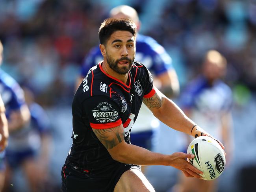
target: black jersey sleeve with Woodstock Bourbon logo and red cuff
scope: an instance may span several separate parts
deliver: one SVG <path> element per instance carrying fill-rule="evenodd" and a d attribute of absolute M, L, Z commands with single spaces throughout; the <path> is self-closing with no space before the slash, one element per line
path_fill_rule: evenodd
<path fill-rule="evenodd" d="M 85 113 L 93 129 L 108 129 L 122 124 L 120 106 L 106 96 L 93 96 L 83 102 Z"/>

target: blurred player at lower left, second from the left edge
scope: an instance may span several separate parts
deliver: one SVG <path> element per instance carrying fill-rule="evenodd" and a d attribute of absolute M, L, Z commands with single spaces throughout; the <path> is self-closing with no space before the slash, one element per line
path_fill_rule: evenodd
<path fill-rule="evenodd" d="M 45 110 L 34 101 L 31 89 L 23 86 L 26 103 L 31 113 L 30 124 L 19 132 L 15 132 L 10 139 L 6 150 L 8 162 L 8 177 L 6 184 L 10 183 L 12 172 L 22 168 L 27 181 L 28 190 L 32 192 L 46 191 L 48 165 L 50 160 L 50 121 Z M 13 182 L 11 182 L 13 183 Z"/>

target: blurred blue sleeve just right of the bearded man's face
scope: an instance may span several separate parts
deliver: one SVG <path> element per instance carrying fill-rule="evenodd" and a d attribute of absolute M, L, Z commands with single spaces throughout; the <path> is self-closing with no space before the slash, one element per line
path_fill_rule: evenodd
<path fill-rule="evenodd" d="M 173 68 L 172 59 L 163 46 L 158 44 L 158 42 L 151 37 L 146 37 L 145 42 L 148 44 L 148 54 L 152 58 L 152 67 L 149 69 L 150 71 L 153 71 L 154 74 L 158 76 Z"/>

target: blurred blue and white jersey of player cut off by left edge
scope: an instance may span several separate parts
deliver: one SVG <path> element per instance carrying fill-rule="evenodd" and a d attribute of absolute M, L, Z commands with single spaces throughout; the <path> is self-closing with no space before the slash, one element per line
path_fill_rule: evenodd
<path fill-rule="evenodd" d="M 25 103 L 24 92 L 20 85 L 2 69 L 0 69 L 0 94 L 6 107 L 7 119 L 12 111 L 19 110 Z"/>

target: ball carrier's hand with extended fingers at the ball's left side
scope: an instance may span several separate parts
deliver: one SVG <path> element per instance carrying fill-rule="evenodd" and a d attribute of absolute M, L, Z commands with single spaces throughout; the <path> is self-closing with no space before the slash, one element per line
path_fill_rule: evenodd
<path fill-rule="evenodd" d="M 181 170 L 186 177 L 196 177 L 198 179 L 202 179 L 202 176 L 199 174 L 203 174 L 202 171 L 195 168 L 192 164 L 187 161 L 188 159 L 194 158 L 193 154 L 186 154 L 182 152 L 176 152 L 171 155 L 171 166 Z"/>

